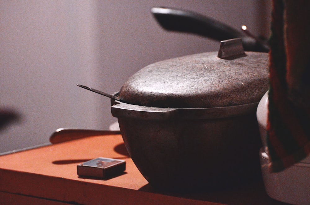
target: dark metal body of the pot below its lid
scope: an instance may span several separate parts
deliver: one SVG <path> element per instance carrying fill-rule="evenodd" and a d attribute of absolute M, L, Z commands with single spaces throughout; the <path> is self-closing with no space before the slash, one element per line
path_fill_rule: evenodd
<path fill-rule="evenodd" d="M 112 115 L 132 160 L 153 187 L 215 189 L 259 177 L 256 107 L 175 109 L 114 102 Z"/>

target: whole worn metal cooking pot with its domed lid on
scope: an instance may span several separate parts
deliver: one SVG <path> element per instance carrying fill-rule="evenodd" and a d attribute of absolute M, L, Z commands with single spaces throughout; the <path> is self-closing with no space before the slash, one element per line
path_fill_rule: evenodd
<path fill-rule="evenodd" d="M 218 57 L 219 56 L 219 57 Z M 241 39 L 151 64 L 111 100 L 135 165 L 159 189 L 222 188 L 260 175 L 256 108 L 268 90 L 268 54 Z"/>

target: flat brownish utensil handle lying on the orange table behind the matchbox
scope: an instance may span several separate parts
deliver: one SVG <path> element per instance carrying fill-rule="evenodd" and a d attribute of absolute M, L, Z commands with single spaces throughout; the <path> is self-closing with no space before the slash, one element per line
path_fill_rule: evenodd
<path fill-rule="evenodd" d="M 57 129 L 50 136 L 50 142 L 52 144 L 58 144 L 61 142 L 67 142 L 67 141 L 81 139 L 85 137 L 99 136 L 99 135 L 113 135 L 113 134 L 120 134 L 120 131 L 60 128 L 60 129 Z"/>

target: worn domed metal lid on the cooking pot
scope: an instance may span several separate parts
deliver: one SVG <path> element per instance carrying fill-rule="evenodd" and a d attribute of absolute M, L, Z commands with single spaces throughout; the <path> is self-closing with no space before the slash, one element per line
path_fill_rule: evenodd
<path fill-rule="evenodd" d="M 227 55 L 227 42 L 221 43 L 219 52 L 187 55 L 146 66 L 126 81 L 119 98 L 135 105 L 171 108 L 259 102 L 269 87 L 268 54 L 244 53 L 242 44 L 239 52 L 228 41 L 232 53 L 238 54 L 231 56 Z"/>

